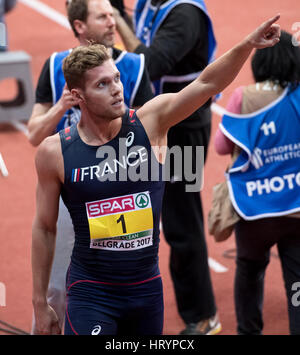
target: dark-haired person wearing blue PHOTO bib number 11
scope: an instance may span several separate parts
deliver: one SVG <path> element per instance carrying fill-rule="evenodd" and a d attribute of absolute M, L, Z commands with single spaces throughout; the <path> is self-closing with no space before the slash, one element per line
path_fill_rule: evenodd
<path fill-rule="evenodd" d="M 300 48 L 292 36 L 282 31 L 278 44 L 258 49 L 252 72 L 255 83 L 234 91 L 214 140 L 219 154 L 232 154 L 235 145 L 241 151 L 227 175 L 242 216 L 235 228 L 237 332 L 263 331 L 264 276 L 276 245 L 290 333 L 299 335 Z"/>

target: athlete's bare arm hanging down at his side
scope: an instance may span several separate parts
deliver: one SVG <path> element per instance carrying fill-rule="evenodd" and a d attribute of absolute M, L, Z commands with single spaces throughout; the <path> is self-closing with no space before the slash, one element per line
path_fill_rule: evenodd
<path fill-rule="evenodd" d="M 32 228 L 32 302 L 37 334 L 60 334 L 58 318 L 47 303 L 47 290 L 55 250 L 62 157 L 57 137 L 47 138 L 36 155 L 38 185 Z"/>

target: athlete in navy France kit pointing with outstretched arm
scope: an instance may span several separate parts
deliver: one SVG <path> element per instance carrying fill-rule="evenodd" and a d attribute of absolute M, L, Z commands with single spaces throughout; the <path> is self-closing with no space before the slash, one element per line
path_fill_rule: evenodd
<path fill-rule="evenodd" d="M 65 59 L 66 82 L 82 114 L 77 125 L 46 138 L 36 155 L 32 272 L 39 334 L 61 331 L 47 303 L 60 195 L 75 230 L 65 334 L 162 333 L 163 181 L 134 179 L 132 169 L 149 176 L 156 169 L 161 176 L 164 158 L 152 147 L 166 146 L 172 125 L 229 85 L 253 48 L 279 41 L 278 19 L 262 24 L 180 92 L 157 96 L 136 112 L 125 109 L 120 73 L 103 46 L 78 47 Z M 159 162 L 154 168 L 153 154 Z"/>

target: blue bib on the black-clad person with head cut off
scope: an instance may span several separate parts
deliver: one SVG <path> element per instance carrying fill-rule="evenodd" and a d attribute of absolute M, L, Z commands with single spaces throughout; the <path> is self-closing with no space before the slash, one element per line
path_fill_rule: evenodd
<path fill-rule="evenodd" d="M 207 17 L 208 23 L 208 61 L 209 63 L 215 59 L 216 40 L 213 32 L 212 22 L 208 15 L 206 5 L 203 0 L 169 0 L 162 4 L 157 12 L 157 7 L 151 5 L 151 0 L 137 0 L 134 10 L 134 26 L 135 33 L 139 40 L 149 47 L 153 41 L 155 33 L 168 16 L 170 11 L 180 4 L 191 4 L 198 7 Z M 191 82 L 196 79 L 200 72 L 189 73 L 187 75 L 166 75 L 160 80 L 153 82 L 155 94 L 159 95 L 163 92 L 163 84 L 167 82 L 184 83 Z"/>

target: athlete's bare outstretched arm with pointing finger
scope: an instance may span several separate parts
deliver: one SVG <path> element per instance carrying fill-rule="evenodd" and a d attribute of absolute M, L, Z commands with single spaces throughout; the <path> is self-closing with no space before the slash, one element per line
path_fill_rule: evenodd
<path fill-rule="evenodd" d="M 254 48 L 271 47 L 278 43 L 280 27 L 274 23 L 279 17 L 277 15 L 264 22 L 207 66 L 196 80 L 178 93 L 157 96 L 138 110 L 150 140 L 155 134 L 164 136 L 171 126 L 190 116 L 210 97 L 224 90 L 235 79 Z"/>

